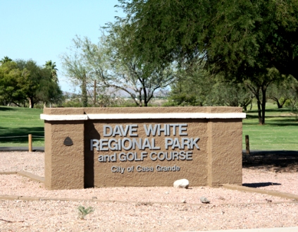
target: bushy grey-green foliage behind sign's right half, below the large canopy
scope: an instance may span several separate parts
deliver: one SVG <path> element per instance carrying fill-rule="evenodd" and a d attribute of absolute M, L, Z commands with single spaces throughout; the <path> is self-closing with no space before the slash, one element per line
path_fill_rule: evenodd
<path fill-rule="evenodd" d="M 242 106 L 247 110 L 252 102 L 252 94 L 243 83 L 227 81 L 201 68 L 190 73 L 180 72 L 178 80 L 170 87 L 168 100 L 169 105 Z"/>

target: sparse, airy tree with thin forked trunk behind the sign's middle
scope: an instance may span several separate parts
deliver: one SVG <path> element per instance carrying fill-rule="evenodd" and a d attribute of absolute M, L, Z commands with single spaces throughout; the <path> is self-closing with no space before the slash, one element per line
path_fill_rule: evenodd
<path fill-rule="evenodd" d="M 127 44 L 131 37 L 133 33 L 125 33 L 125 25 L 110 24 L 108 36 L 103 37 L 104 49 L 113 68 L 113 76 L 122 79 L 123 84 L 116 85 L 116 89 L 126 90 L 138 106 L 148 106 L 156 90 L 162 90 L 173 83 L 177 70 L 174 63 L 166 66 L 152 61 L 139 63 L 137 56 L 128 56 L 123 50 L 123 44 Z M 118 80 L 116 83 L 119 83 Z"/>

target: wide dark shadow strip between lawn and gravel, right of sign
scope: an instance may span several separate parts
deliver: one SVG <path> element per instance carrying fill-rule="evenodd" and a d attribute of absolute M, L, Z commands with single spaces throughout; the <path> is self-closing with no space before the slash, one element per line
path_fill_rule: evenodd
<path fill-rule="evenodd" d="M 242 153 L 242 166 L 247 169 L 266 169 L 273 172 L 298 172 L 297 151 L 254 151 Z"/>

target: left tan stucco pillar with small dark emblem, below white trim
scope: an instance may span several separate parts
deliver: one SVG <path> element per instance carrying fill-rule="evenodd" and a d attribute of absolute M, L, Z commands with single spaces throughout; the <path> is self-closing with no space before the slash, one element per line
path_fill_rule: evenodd
<path fill-rule="evenodd" d="M 84 124 L 45 122 L 45 186 L 48 189 L 84 188 Z M 70 137 L 72 146 L 63 145 Z"/>

